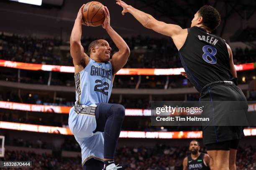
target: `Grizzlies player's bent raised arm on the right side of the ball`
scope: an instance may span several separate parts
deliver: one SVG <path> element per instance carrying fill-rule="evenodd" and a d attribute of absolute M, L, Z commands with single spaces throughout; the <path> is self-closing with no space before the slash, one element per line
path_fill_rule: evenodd
<path fill-rule="evenodd" d="M 114 75 L 126 64 L 130 55 L 130 49 L 123 38 L 110 26 L 110 15 L 108 8 L 104 7 L 103 11 L 105 13 L 105 21 L 102 24 L 102 27 L 108 32 L 108 35 L 111 37 L 116 47 L 118 47 L 118 52 L 112 56 L 111 60 Z"/>

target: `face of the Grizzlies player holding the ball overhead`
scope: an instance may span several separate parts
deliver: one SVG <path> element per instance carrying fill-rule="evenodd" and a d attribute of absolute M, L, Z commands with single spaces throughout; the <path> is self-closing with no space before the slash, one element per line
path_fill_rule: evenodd
<path fill-rule="evenodd" d="M 99 40 L 99 43 L 96 46 L 96 52 L 102 62 L 108 62 L 110 59 L 111 47 L 106 40 Z"/>

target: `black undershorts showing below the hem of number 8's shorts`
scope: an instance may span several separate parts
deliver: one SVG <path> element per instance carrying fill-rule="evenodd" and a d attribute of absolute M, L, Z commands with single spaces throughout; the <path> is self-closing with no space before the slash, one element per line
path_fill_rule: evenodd
<path fill-rule="evenodd" d="M 206 144 L 205 148 L 207 150 L 230 150 L 230 148 L 237 150 L 238 145 L 239 145 L 239 139 L 234 139 L 234 140 L 226 140 L 218 143 Z"/>

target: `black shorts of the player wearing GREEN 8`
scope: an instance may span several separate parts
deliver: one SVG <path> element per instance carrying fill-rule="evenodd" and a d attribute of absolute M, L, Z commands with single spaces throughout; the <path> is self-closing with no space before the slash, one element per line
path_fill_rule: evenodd
<path fill-rule="evenodd" d="M 244 101 L 241 106 L 241 110 L 245 110 L 244 114 L 246 115 L 248 109 L 248 104 L 246 97 L 244 96 L 243 92 L 240 88 L 238 88 L 233 83 L 223 83 L 223 84 L 213 84 L 209 85 L 205 88 L 205 90 L 201 91 L 200 101 Z M 218 108 L 216 108 L 218 109 Z M 240 108 L 238 108 L 240 109 Z M 212 110 L 211 114 L 215 114 L 215 110 Z M 225 114 L 226 110 L 221 112 L 221 114 Z M 217 113 L 216 113 L 217 114 Z M 230 112 L 229 112 L 230 114 Z M 232 114 L 232 112 L 231 112 Z M 228 115 L 231 116 L 232 115 Z M 243 136 L 243 126 L 217 126 L 217 125 L 203 125 L 202 126 L 203 132 L 203 143 L 205 145 L 215 143 L 221 143 L 223 141 L 229 140 L 239 140 Z M 239 142 L 239 141 L 238 141 Z"/>

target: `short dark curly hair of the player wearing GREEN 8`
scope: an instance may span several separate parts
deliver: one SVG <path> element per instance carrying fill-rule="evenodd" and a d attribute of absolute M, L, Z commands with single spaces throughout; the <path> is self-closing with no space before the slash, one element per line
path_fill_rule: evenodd
<path fill-rule="evenodd" d="M 203 18 L 202 24 L 211 31 L 215 30 L 220 25 L 220 13 L 210 5 L 204 5 L 198 11 Z"/>

